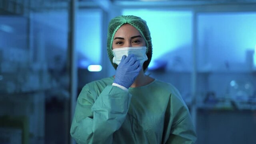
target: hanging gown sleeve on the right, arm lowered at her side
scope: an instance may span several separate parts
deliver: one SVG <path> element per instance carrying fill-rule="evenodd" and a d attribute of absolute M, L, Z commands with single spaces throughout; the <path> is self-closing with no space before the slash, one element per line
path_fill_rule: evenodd
<path fill-rule="evenodd" d="M 166 110 L 164 144 L 194 144 L 197 136 L 192 119 L 178 90 L 171 96 Z"/>

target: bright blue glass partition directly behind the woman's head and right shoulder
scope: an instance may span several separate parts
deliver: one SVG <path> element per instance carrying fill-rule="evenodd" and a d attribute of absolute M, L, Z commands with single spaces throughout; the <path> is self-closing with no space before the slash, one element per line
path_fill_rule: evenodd
<path fill-rule="evenodd" d="M 191 104 L 192 11 L 124 9 L 122 14 L 146 20 L 152 38 L 152 60 L 146 74 L 173 84 Z"/>

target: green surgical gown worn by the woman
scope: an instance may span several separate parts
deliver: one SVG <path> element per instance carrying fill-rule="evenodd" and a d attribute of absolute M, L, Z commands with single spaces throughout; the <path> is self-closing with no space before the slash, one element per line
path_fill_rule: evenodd
<path fill-rule="evenodd" d="M 114 78 L 86 84 L 70 134 L 78 144 L 192 144 L 196 132 L 188 108 L 171 84 L 154 80 L 129 92 Z"/>

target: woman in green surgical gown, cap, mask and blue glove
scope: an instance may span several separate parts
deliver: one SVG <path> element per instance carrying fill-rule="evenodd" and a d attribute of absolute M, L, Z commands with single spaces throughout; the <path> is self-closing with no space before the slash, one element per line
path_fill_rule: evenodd
<path fill-rule="evenodd" d="M 150 31 L 137 16 L 108 26 L 115 76 L 86 84 L 70 130 L 79 144 L 190 144 L 196 133 L 178 90 L 144 74 L 152 57 Z"/>

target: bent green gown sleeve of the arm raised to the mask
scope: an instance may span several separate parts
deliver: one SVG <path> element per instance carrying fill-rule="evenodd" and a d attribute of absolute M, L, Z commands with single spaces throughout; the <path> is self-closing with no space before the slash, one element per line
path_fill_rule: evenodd
<path fill-rule="evenodd" d="M 112 143 L 112 134 L 124 122 L 130 100 L 131 95 L 116 86 L 106 86 L 99 96 L 84 86 L 71 124 L 72 138 L 78 144 Z"/>

